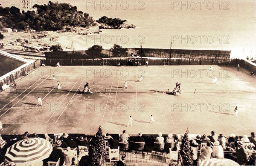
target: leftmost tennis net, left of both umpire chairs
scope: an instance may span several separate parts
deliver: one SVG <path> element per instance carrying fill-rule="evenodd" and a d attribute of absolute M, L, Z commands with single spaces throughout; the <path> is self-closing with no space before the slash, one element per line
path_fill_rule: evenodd
<path fill-rule="evenodd" d="M 16 89 L 13 93 L 80 93 L 80 89 Z"/>

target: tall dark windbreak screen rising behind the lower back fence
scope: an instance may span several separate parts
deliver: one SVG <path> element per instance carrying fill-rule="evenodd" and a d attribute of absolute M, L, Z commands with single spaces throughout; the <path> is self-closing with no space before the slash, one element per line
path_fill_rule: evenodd
<path fill-rule="evenodd" d="M 140 57 L 229 59 L 230 52 L 231 51 L 221 50 L 121 48 L 101 50 L 91 49 L 65 52 L 45 52 L 45 56 L 47 59 L 101 59 L 111 57 L 131 57 L 131 54 L 139 54 Z"/>

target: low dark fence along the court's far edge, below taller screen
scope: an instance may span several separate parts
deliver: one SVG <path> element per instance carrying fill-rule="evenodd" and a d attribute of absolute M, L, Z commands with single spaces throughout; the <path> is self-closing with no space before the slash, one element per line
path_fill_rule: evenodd
<path fill-rule="evenodd" d="M 231 64 L 232 59 L 145 59 L 145 58 L 119 58 L 119 59 L 47 59 L 41 60 L 46 66 L 165 66 L 165 65 L 221 65 Z"/>

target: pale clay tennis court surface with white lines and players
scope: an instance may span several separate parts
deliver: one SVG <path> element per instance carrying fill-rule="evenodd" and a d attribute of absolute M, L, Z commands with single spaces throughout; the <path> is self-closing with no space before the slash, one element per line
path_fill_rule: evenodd
<path fill-rule="evenodd" d="M 1 92 L 2 134 L 162 132 L 229 135 L 256 130 L 256 79 L 235 67 L 40 67 Z M 52 73 L 56 79 L 52 80 Z M 143 76 L 142 82 L 139 77 Z M 212 83 L 213 77 L 217 84 Z M 61 89 L 57 89 L 57 81 Z M 79 93 L 89 82 L 93 94 Z M 127 81 L 128 89 L 123 89 Z M 176 81 L 181 95 L 169 95 Z M 106 89 L 106 90 L 105 90 Z M 195 90 L 196 89 L 196 90 Z M 38 97 L 43 106 L 38 106 Z M 238 116 L 233 115 L 239 105 Z M 149 123 L 150 115 L 155 123 Z M 127 127 L 129 116 L 133 126 Z"/>

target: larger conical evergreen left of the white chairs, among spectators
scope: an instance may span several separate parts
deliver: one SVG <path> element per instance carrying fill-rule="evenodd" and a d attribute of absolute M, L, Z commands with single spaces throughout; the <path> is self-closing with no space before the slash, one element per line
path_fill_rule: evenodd
<path fill-rule="evenodd" d="M 98 132 L 95 136 L 95 142 L 93 143 L 92 159 L 90 161 L 92 166 L 104 166 L 105 163 L 105 142 L 102 134 L 102 128 L 99 126 Z"/>

